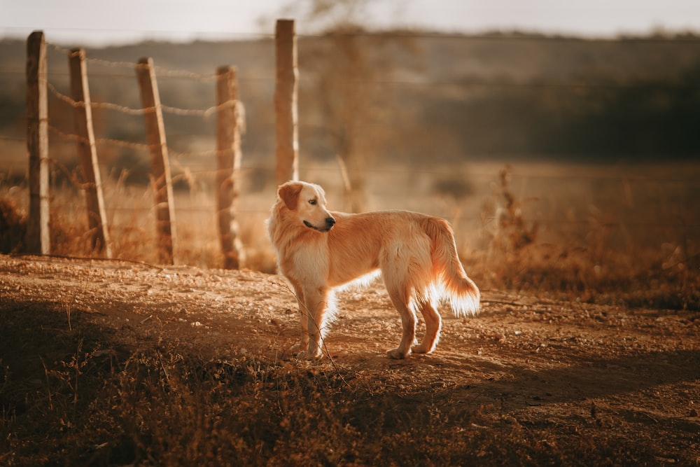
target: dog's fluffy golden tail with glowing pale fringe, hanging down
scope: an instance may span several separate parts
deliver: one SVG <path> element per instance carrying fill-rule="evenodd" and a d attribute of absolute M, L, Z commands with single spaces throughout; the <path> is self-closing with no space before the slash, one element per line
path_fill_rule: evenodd
<path fill-rule="evenodd" d="M 441 282 L 433 284 L 437 288 L 437 294 L 449 302 L 455 316 L 477 314 L 481 298 L 479 288 L 464 272 L 449 223 L 441 218 L 429 218 L 425 228 L 430 237 L 433 277 Z"/>

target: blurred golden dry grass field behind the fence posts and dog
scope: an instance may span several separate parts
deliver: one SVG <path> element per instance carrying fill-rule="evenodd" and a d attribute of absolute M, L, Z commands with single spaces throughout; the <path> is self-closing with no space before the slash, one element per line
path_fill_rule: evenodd
<path fill-rule="evenodd" d="M 530 168 L 535 176 L 496 165 L 481 170 L 481 176 L 379 172 L 370 177 L 370 207 L 448 218 L 468 273 L 482 288 L 607 304 L 700 307 L 697 167 L 620 170 L 620 178 L 609 167 Z M 330 200 L 340 204 L 342 188 L 328 183 L 329 173 L 338 178 L 334 167 L 311 169 L 307 178 L 326 181 Z M 181 178 L 188 189 L 176 191 L 177 262 L 221 267 L 210 183 L 191 174 Z M 21 251 L 27 190 L 3 184 L 0 211 L 8 227 L 1 248 Z M 409 199 L 402 191 L 406 186 L 412 189 Z M 76 184 L 64 183 L 52 193 L 52 253 L 94 255 Z M 108 179 L 104 193 L 115 256 L 156 263 L 152 190 Z M 272 186 L 244 191 L 238 217 L 246 267 L 270 273 L 275 259 L 264 222 L 272 197 Z"/>

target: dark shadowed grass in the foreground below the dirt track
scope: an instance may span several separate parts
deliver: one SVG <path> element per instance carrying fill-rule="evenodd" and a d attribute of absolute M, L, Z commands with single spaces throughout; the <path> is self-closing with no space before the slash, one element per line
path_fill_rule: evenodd
<path fill-rule="evenodd" d="M 555 435 L 449 388 L 403 394 L 391 373 L 378 381 L 339 363 L 220 361 L 175 342 L 126 349 L 80 312 L 69 325 L 59 307 L 3 307 L 3 348 L 43 356 L 2 366 L 3 465 L 659 463 L 651 447 L 602 428 Z M 22 379 L 36 373 L 30 365 L 43 366 L 43 381 Z"/>

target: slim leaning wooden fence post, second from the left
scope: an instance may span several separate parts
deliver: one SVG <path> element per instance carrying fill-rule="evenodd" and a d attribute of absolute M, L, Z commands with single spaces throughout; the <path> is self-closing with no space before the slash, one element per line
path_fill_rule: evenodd
<path fill-rule="evenodd" d="M 90 88 L 87 86 L 85 50 L 75 48 L 68 57 L 71 70 L 71 97 L 76 102 L 76 134 L 78 155 L 83 167 L 83 183 L 87 201 L 87 223 L 90 226 L 93 251 L 101 251 L 112 257 L 111 240 L 107 230 L 107 216 L 102 195 L 102 177 L 97 165 L 97 148 L 92 127 Z"/>

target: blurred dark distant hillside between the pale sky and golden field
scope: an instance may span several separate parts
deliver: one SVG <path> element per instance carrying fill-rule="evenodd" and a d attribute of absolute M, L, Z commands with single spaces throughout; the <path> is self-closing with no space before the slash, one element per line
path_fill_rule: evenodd
<path fill-rule="evenodd" d="M 360 37 L 357 43 L 372 57 L 367 63 L 381 64 L 371 80 L 349 83 L 363 99 L 377 103 L 361 119 L 360 147 L 379 160 L 613 161 L 700 155 L 696 36 L 584 41 L 394 32 Z M 332 133 L 339 130 L 325 118 L 329 97 L 321 97 L 314 77 L 323 57 L 334 51 L 325 37 L 302 37 L 298 44 L 301 151 L 329 157 L 337 153 Z M 220 65 L 234 65 L 246 106 L 244 153 L 265 161 L 274 152 L 272 39 L 141 43 L 88 49 L 87 56 L 116 63 L 148 56 L 162 69 L 207 77 Z M 0 137 L 24 137 L 24 67 L 25 43 L 0 42 Z M 94 101 L 139 106 L 128 67 L 91 62 L 88 71 Z M 50 82 L 67 94 L 67 58 L 52 47 L 49 73 Z M 164 75 L 159 87 L 164 104 L 206 109 L 214 103 L 214 83 L 207 79 Z M 70 109 L 52 99 L 52 125 L 71 132 Z M 139 118 L 97 111 L 96 119 L 99 137 L 144 140 Z M 169 144 L 179 151 L 212 144 L 214 118 L 167 116 L 166 124 Z M 135 157 L 123 148 L 111 154 L 130 164 Z"/>

